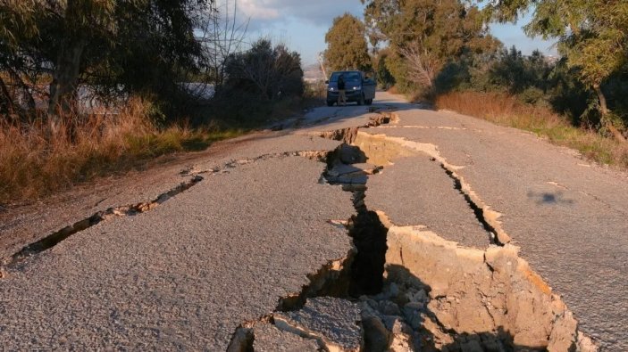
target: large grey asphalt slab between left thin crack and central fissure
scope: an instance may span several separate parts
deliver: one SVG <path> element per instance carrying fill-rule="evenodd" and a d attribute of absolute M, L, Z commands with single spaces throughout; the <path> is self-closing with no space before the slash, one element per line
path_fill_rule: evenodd
<path fill-rule="evenodd" d="M 264 160 L 208 177 L 157 209 L 77 233 L 0 280 L 9 350 L 225 350 L 351 244 L 354 209 L 324 165 Z M 298 197 L 295 195 L 299 194 Z"/>

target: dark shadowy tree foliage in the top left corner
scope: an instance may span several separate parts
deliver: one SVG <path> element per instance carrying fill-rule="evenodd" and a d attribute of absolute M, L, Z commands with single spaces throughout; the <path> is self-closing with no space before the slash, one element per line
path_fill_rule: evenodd
<path fill-rule="evenodd" d="M 18 85 L 47 80 L 51 116 L 71 110 L 82 83 L 97 86 L 101 94 L 167 98 L 176 93 L 180 71 L 197 70 L 202 61 L 194 29 L 213 3 L 3 0 L 0 70 L 15 72 Z"/>

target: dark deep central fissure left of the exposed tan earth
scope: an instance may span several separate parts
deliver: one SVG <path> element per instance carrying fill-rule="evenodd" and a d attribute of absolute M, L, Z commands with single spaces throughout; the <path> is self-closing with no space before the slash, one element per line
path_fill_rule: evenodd
<path fill-rule="evenodd" d="M 364 127 L 379 126 L 381 123 L 388 123 L 391 119 L 389 114 L 381 115 L 372 119 Z M 281 319 L 281 323 L 277 323 L 275 316 L 279 318 L 281 314 L 303 310 L 308 299 L 331 297 L 348 302 L 349 299 L 356 299 L 362 295 L 378 294 L 381 292 L 384 281 L 388 228 L 381 223 L 378 214 L 368 210 L 364 204 L 367 175 L 377 174 L 381 171 L 381 167 L 353 167 L 357 164 L 364 164 L 366 161 L 364 151 L 350 144 L 355 140 L 357 130 L 358 127 L 351 127 L 322 133 L 320 136 L 323 138 L 343 143 L 325 154 L 324 159 L 318 159 L 325 163 L 318 182 L 339 185 L 343 191 L 352 193 L 351 201 L 356 209 L 356 215 L 350 217 L 345 226 L 347 235 L 353 240 L 355 250 L 350 250 L 345 258 L 327 263 L 315 274 L 308 274 L 309 283 L 301 291 L 279 299 L 271 319 L 264 316 L 256 322 L 272 323 L 273 326 L 280 327 L 282 331 L 296 334 L 303 339 L 315 340 L 320 350 L 354 349 L 341 348 L 334 341 L 320 336 L 319 333 L 308 331 L 305 327 L 293 325 L 286 320 Z M 245 352 L 253 349 L 254 329 L 255 323 L 241 324 L 233 333 L 228 351 Z"/>

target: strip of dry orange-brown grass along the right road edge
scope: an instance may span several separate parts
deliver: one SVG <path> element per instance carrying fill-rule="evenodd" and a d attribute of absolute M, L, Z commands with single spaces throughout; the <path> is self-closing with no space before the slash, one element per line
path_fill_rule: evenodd
<path fill-rule="evenodd" d="M 525 104 L 507 94 L 449 93 L 438 96 L 435 105 L 438 109 L 457 111 L 501 126 L 531 131 L 547 137 L 552 143 L 580 151 L 590 160 L 628 168 L 628 145 L 574 127 L 548 108 Z"/>

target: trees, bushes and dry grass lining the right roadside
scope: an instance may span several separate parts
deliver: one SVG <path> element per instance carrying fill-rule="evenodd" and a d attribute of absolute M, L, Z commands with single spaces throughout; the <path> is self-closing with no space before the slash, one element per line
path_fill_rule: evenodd
<path fill-rule="evenodd" d="M 628 168 L 628 3 L 362 2 L 370 66 L 381 87 Z M 523 55 L 490 36 L 490 22 L 526 12 L 526 34 L 555 40 L 559 58 Z M 338 47 L 330 44 L 326 57 L 356 57 L 355 45 Z"/>

